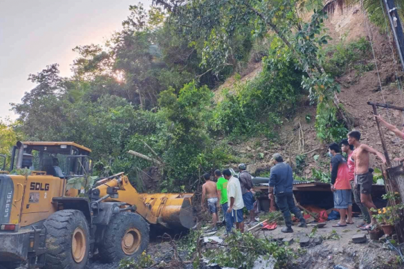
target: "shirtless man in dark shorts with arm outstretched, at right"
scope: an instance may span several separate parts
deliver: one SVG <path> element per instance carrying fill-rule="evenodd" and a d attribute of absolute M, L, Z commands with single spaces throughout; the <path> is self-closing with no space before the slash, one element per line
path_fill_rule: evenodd
<path fill-rule="evenodd" d="M 357 188 L 360 188 L 360 202 L 365 205 L 365 207 L 369 209 L 371 215 L 373 215 L 374 212 L 371 212 L 371 208 L 376 209 L 376 206 L 371 200 L 370 195 L 371 185 L 373 184 L 373 174 L 369 171 L 369 154 L 378 156 L 383 163 L 386 162 L 386 159 L 379 151 L 372 149 L 368 145 L 361 144 L 359 140 L 359 131 L 350 131 L 348 133 L 349 145 L 355 147 L 355 151 L 353 151 L 351 158 L 355 162 L 355 185 Z M 376 219 L 373 216 L 371 218 L 371 223 L 361 230 L 369 230 L 372 224 L 376 224 Z"/>

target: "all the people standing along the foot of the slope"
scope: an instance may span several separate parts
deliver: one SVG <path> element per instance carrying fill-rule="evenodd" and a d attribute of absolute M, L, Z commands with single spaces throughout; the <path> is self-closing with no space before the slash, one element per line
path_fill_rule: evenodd
<path fill-rule="evenodd" d="M 396 136 L 404 139 L 403 130 L 399 130 L 380 117 L 375 116 L 387 129 Z M 376 149 L 360 142 L 360 132 L 350 131 L 347 138 L 339 144 L 333 142 L 329 145 L 331 156 L 331 192 L 333 192 L 334 207 L 340 212 L 340 221 L 333 227 L 346 227 L 353 224 L 352 220 L 352 194 L 355 203 L 362 212 L 363 221 L 356 227 L 361 230 L 371 230 L 376 224 L 372 209 L 376 210 L 371 199 L 371 186 L 373 185 L 373 169 L 369 168 L 369 154 L 376 155 L 383 163 L 385 156 Z M 347 158 L 342 156 L 342 152 Z M 395 160 L 403 161 L 404 158 Z M 286 227 L 282 232 L 293 232 L 291 213 L 300 221 L 300 227 L 307 227 L 302 212 L 296 207 L 293 198 L 293 171 L 284 163 L 280 154 L 273 155 L 275 165 L 270 169 L 268 197 L 274 199 L 277 207 L 282 211 Z M 202 207 L 204 208 L 205 197 L 208 198 L 209 211 L 212 214 L 213 228 L 217 230 L 217 212 L 219 201 L 225 215 L 226 230 L 232 230 L 233 223 L 237 229 L 244 232 L 243 208 L 250 211 L 250 222 L 255 222 L 255 210 L 253 210 L 254 197 L 252 194 L 252 178 L 246 171 L 246 165 L 239 165 L 239 178 L 232 176 L 230 169 L 214 172 L 217 183 L 210 180 L 210 174 L 205 174 L 206 183 L 203 185 Z"/>

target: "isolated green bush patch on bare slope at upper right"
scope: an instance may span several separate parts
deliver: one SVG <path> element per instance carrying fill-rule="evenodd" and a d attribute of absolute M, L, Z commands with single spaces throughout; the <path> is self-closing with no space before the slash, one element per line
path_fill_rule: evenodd
<path fill-rule="evenodd" d="M 333 76 L 339 77 L 347 71 L 356 69 L 358 73 L 370 71 L 374 68 L 373 63 L 367 63 L 370 58 L 370 43 L 365 37 L 347 44 L 342 37 L 338 44 L 328 46 L 324 53 L 324 70 Z"/>

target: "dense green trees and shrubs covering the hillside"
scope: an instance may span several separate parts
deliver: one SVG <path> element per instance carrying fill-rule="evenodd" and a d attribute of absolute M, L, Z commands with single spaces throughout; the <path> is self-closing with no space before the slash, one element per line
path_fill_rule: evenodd
<path fill-rule="evenodd" d="M 127 154 L 131 149 L 163 161 L 155 190 L 189 192 L 206 171 L 284 150 L 274 146 L 284 138 L 281 127 L 302 107 L 311 109 L 300 122 L 315 140 L 306 148 L 353 129 L 335 79 L 373 71 L 370 44 L 358 38 L 327 46 L 322 3 L 158 0 L 149 10 L 129 10 L 105 44 L 73 49 L 71 77 L 60 77 L 57 64 L 29 75 L 37 86 L 12 104 L 17 122 L 0 125 L 1 152 L 17 138 L 74 141 L 93 150 L 95 174 L 125 171 L 148 191 L 142 171 L 153 164 Z M 311 17 L 302 19 L 307 10 Z M 241 82 L 239 74 L 256 62 L 262 70 Z M 212 91 L 230 76 L 234 84 Z M 266 149 L 246 156 L 234 147 L 251 138 Z M 302 175 L 304 158 L 293 158 Z"/>

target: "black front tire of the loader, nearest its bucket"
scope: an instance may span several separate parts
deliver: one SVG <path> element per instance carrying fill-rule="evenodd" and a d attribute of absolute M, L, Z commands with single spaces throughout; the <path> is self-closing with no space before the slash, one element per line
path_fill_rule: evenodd
<path fill-rule="evenodd" d="M 149 245 L 149 223 L 142 216 L 120 212 L 113 216 L 98 246 L 102 261 L 136 259 Z"/>

